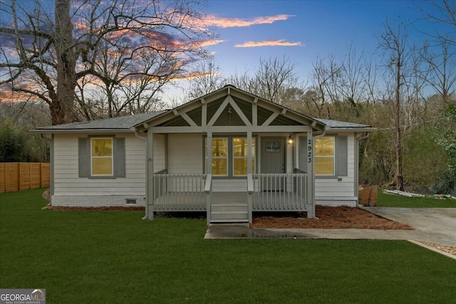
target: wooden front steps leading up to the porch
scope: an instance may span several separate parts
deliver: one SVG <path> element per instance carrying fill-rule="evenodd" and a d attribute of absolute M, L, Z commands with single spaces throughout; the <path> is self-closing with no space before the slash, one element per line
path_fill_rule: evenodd
<path fill-rule="evenodd" d="M 246 223 L 249 222 L 247 204 L 212 204 L 211 223 Z"/>

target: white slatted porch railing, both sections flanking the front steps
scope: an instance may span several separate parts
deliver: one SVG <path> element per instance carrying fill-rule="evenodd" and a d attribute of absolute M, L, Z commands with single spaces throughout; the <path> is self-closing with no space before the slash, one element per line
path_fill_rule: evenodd
<path fill-rule="evenodd" d="M 211 174 L 167 174 L 163 171 L 152 178 L 153 211 L 207 211 L 209 219 L 215 195 Z M 306 185 L 305 173 L 248 174 L 249 220 L 252 211 L 306 211 Z M 226 192 L 222 195 L 229 197 Z"/>

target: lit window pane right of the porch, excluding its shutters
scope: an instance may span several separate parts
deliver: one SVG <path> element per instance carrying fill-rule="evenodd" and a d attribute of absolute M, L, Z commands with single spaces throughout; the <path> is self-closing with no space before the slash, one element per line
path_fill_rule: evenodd
<path fill-rule="evenodd" d="M 335 175 L 335 137 L 320 137 L 315 140 L 315 174 Z"/>

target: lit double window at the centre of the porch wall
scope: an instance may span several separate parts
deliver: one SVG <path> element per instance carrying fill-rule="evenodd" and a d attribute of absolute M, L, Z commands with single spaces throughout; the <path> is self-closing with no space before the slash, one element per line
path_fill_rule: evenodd
<path fill-rule="evenodd" d="M 205 145 L 207 151 L 207 139 Z M 214 177 L 242 177 L 247 175 L 247 138 L 212 138 L 212 175 Z M 255 138 L 252 138 L 252 173 L 255 172 Z M 207 172 L 207 156 L 206 156 Z"/>

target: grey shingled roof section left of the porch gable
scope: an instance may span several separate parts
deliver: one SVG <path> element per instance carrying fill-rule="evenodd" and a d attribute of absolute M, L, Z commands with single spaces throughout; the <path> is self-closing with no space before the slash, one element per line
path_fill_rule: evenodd
<path fill-rule="evenodd" d="M 132 127 L 138 123 L 150 120 L 167 110 L 159 112 L 148 112 L 129 116 L 111 117 L 102 120 L 90 120 L 86 122 L 71 122 L 64 125 L 50 125 L 37 127 L 34 132 L 59 133 L 59 132 L 133 132 Z"/>

